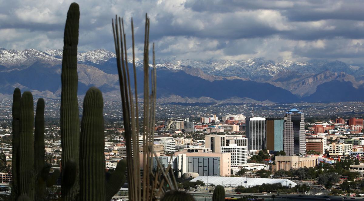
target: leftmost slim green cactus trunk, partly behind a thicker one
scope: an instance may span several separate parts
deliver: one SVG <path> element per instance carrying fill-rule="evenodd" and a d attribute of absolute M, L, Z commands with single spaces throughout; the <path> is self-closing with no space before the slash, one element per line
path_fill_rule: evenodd
<path fill-rule="evenodd" d="M 19 139 L 20 139 L 20 131 L 19 131 L 19 119 L 20 119 L 20 98 L 21 92 L 19 88 L 15 88 L 13 94 L 13 106 L 12 106 L 12 116 L 13 116 L 13 139 L 12 139 L 12 159 L 11 159 L 11 171 L 12 171 L 12 184 L 11 184 L 11 199 L 16 200 L 19 196 L 19 188 L 18 188 L 18 151 L 19 151 Z"/>

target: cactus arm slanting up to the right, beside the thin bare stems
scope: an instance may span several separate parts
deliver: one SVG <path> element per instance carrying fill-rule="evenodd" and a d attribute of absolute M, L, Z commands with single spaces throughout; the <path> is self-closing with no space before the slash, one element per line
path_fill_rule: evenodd
<path fill-rule="evenodd" d="M 121 160 L 116 165 L 115 171 L 111 173 L 106 181 L 106 200 L 111 200 L 125 183 L 126 160 Z"/>

